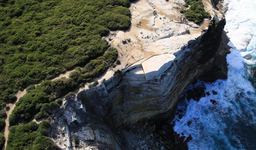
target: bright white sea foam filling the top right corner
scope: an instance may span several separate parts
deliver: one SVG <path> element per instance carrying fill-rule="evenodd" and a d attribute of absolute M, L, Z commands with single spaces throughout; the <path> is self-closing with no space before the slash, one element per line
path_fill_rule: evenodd
<path fill-rule="evenodd" d="M 256 1 L 224 0 L 224 3 L 228 4 L 225 31 L 234 46 L 244 50 L 256 33 Z"/>

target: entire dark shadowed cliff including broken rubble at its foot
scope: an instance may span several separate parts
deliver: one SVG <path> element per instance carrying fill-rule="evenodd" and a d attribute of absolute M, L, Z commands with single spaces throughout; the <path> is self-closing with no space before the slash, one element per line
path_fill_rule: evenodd
<path fill-rule="evenodd" d="M 199 100 L 208 93 L 186 88 L 197 79 L 227 78 L 225 19 L 216 21 L 173 53 L 157 78 L 147 80 L 142 59 L 97 87 L 66 97 L 54 114 L 52 139 L 62 149 L 188 149 L 193 137 L 177 135 L 172 120 L 185 96 Z"/>

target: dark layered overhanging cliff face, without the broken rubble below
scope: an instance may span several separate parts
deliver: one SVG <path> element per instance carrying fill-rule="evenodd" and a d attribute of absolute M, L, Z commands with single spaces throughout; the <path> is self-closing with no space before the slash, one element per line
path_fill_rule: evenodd
<path fill-rule="evenodd" d="M 141 63 L 135 63 L 100 86 L 78 93 L 77 99 L 86 110 L 107 118 L 116 127 L 170 117 L 184 89 L 193 81 L 227 78 L 229 49 L 219 47 L 225 19 L 216 23 L 213 21 L 202 36 L 174 53 L 176 58 L 166 63 L 169 67 L 160 77 L 147 80 Z"/>

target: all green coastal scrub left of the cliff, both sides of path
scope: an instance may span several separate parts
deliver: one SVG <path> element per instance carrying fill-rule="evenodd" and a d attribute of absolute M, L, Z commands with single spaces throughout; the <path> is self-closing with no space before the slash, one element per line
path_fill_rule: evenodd
<path fill-rule="evenodd" d="M 6 103 L 17 99 L 18 90 L 45 80 L 40 86 L 27 88 L 27 94 L 19 99 L 9 116 L 11 126 L 34 117 L 48 117 L 61 104 L 60 100 L 56 101 L 58 97 L 111 66 L 116 61 L 117 50 L 109 48 L 101 37 L 109 30 L 130 27 L 129 6 L 129 0 L 0 0 L 1 129 L 5 126 Z M 49 81 L 80 65 L 85 67 L 78 67 L 70 78 Z M 45 138 L 40 139 L 37 125 L 28 125 L 35 126 L 33 130 L 26 130 L 25 126 L 15 126 L 19 131 L 10 134 L 8 149 L 49 146 L 37 145 L 40 141 L 49 143 Z M 18 136 L 19 132 L 24 137 Z M 14 135 L 20 139 L 32 138 L 20 145 L 15 141 L 18 138 L 12 138 Z"/>

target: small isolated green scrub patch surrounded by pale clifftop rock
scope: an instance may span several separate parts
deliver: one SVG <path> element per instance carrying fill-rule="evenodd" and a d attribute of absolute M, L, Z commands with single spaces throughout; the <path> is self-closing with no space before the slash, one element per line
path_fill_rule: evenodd
<path fill-rule="evenodd" d="M 185 15 L 189 21 L 194 21 L 196 24 L 200 24 L 204 18 L 211 18 L 211 15 L 205 11 L 202 0 L 184 0 L 186 4 L 190 5 L 190 8 L 185 10 L 181 9 L 180 12 Z"/>

